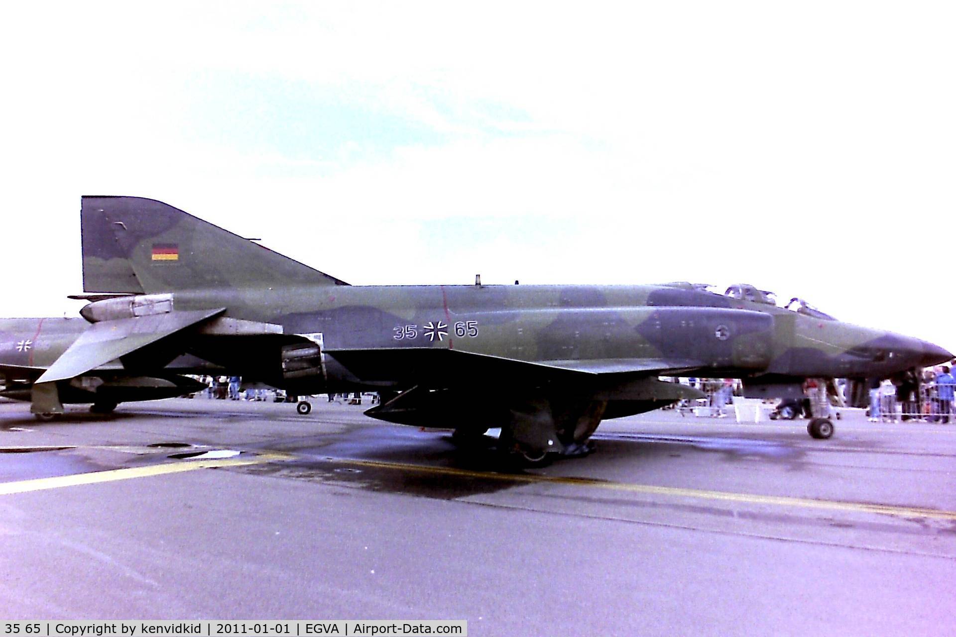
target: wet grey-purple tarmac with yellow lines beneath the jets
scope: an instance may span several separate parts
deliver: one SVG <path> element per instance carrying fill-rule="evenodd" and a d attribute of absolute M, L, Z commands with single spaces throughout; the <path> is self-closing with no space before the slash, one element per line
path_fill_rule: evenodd
<path fill-rule="evenodd" d="M 515 470 L 369 405 L 0 404 L 0 619 L 956 632 L 956 424 L 654 412 Z M 449 414 L 453 420 L 454 414 Z M 489 441 L 489 444 L 493 441 Z"/>

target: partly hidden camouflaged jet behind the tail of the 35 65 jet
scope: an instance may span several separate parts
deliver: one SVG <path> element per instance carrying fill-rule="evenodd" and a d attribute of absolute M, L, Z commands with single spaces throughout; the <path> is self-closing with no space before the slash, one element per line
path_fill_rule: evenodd
<path fill-rule="evenodd" d="M 89 327 L 82 318 L 0 319 L 0 396 L 30 400 L 36 379 Z M 158 400 L 198 392 L 206 386 L 183 374 L 219 372 L 206 361 L 188 355 L 152 370 L 127 369 L 122 361 L 113 360 L 57 381 L 56 388 L 61 402 L 92 403 L 93 413 L 108 414 L 128 400 Z"/>

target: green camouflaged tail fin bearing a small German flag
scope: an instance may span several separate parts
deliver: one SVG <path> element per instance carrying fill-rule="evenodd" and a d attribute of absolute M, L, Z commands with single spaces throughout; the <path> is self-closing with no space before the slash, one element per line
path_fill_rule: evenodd
<path fill-rule="evenodd" d="M 348 285 L 163 202 L 82 198 L 83 290 Z"/>

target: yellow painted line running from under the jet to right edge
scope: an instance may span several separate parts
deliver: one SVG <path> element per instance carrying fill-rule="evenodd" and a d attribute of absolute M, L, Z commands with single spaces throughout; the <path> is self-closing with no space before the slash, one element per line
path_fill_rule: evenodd
<path fill-rule="evenodd" d="M 459 476 L 462 478 L 482 478 L 502 480 L 508 482 L 528 482 L 564 484 L 597 489 L 611 489 L 630 493 L 649 494 L 655 496 L 669 496 L 672 498 L 716 499 L 748 504 L 771 504 L 775 506 L 792 506 L 809 509 L 823 509 L 830 511 L 879 513 L 899 518 L 932 518 L 936 520 L 956 520 L 956 511 L 944 511 L 912 506 L 894 506 L 891 504 L 871 504 L 867 502 L 848 502 L 830 499 L 792 498 L 789 496 L 763 496 L 759 494 L 733 493 L 729 491 L 707 491 L 704 489 L 685 489 L 681 487 L 663 487 L 652 484 L 635 484 L 630 482 L 615 482 L 597 478 L 574 478 L 562 476 L 541 476 L 535 474 L 499 474 L 495 472 L 472 471 L 453 467 L 429 467 L 421 464 L 405 464 L 402 462 L 380 462 L 378 460 L 352 460 L 337 458 L 339 464 L 351 464 L 359 467 L 376 469 L 395 469 L 400 471 L 415 471 L 425 474 L 444 476 Z"/>

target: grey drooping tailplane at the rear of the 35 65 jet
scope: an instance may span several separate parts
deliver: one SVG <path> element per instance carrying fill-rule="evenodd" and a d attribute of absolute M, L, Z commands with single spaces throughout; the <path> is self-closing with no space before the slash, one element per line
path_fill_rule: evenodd
<path fill-rule="evenodd" d="M 225 308 L 171 311 L 94 323 L 36 382 L 66 380 L 89 372 L 224 311 Z"/>

